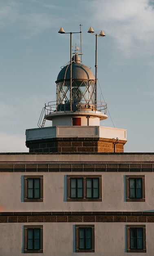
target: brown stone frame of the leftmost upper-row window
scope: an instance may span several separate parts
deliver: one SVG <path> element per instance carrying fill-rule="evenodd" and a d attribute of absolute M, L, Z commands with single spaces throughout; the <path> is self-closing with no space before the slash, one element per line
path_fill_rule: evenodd
<path fill-rule="evenodd" d="M 28 179 L 40 179 L 40 198 L 28 198 Z M 24 175 L 24 202 L 43 202 L 43 175 Z"/>

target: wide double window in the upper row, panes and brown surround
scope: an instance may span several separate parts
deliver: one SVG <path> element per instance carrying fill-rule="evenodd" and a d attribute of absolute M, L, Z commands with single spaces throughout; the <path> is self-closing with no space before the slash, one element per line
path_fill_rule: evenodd
<path fill-rule="evenodd" d="M 68 201 L 102 201 L 101 175 L 67 175 Z"/>

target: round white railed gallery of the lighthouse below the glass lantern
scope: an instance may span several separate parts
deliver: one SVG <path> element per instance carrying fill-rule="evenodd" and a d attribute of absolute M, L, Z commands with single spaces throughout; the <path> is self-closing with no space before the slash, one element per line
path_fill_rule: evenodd
<path fill-rule="evenodd" d="M 97 104 L 73 102 L 70 110 L 68 102 L 57 104 L 57 101 L 51 101 L 42 109 L 37 125 L 42 128 L 46 120 L 52 120 L 53 126 L 71 126 L 73 118 L 81 118 L 81 126 L 99 126 L 100 120 L 108 118 L 107 104 L 102 101 Z"/>

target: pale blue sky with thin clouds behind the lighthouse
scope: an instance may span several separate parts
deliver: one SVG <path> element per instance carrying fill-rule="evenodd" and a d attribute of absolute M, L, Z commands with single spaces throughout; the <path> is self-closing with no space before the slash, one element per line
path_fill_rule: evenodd
<path fill-rule="evenodd" d="M 124 152 L 154 152 L 154 0 L 0 0 L 0 152 L 29 152 L 25 130 L 37 128 L 56 100 L 57 75 L 70 60 L 70 36 L 82 29 L 82 62 L 108 104 L 101 126 L 127 129 Z M 73 34 L 80 47 L 80 34 Z M 74 49 L 74 48 L 73 48 Z M 99 99 L 98 99 L 99 100 Z M 47 121 L 45 126 L 52 126 Z"/>

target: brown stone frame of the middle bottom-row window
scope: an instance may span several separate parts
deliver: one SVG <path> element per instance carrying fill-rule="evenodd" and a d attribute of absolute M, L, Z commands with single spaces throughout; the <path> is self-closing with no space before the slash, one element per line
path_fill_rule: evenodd
<path fill-rule="evenodd" d="M 79 249 L 79 229 L 89 228 L 91 229 L 91 248 Z M 95 225 L 75 225 L 75 252 L 95 252 Z"/>

